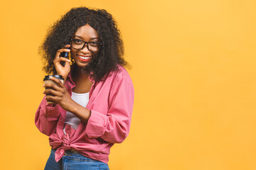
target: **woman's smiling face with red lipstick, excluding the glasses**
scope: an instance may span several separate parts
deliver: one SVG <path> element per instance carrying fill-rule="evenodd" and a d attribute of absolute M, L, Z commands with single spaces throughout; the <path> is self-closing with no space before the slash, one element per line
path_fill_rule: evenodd
<path fill-rule="evenodd" d="M 93 43 L 100 42 L 97 31 L 89 24 L 79 27 L 72 39 L 75 39 L 77 43 L 80 43 L 80 40 L 83 40 L 85 42 L 92 42 L 92 45 Z M 75 42 L 73 41 L 72 43 L 75 47 Z M 70 47 L 71 57 L 73 57 L 78 67 L 87 66 L 87 64 L 92 60 L 92 57 L 95 57 L 95 55 L 97 55 L 97 52 L 90 51 L 92 50 L 91 47 L 90 50 L 88 50 L 87 45 L 88 44 L 85 43 L 84 47 L 81 50 L 76 50 L 73 47 Z"/>

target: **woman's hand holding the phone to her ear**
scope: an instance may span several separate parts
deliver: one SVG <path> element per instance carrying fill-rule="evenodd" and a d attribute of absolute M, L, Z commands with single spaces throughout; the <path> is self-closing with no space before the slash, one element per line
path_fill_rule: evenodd
<path fill-rule="evenodd" d="M 68 77 L 68 73 L 70 72 L 70 60 L 65 57 L 60 57 L 61 52 L 70 52 L 70 49 L 67 49 L 70 45 L 65 45 L 62 49 L 58 50 L 55 55 L 55 59 L 53 60 L 53 64 L 55 66 L 56 72 L 58 75 L 63 76 L 64 82 Z M 60 62 L 66 62 L 65 67 L 63 67 Z"/>

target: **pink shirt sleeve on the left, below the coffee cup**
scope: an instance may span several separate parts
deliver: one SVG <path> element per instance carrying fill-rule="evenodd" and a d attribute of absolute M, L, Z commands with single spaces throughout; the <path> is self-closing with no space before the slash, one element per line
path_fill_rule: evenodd
<path fill-rule="evenodd" d="M 44 96 L 36 111 L 36 127 L 43 134 L 50 136 L 56 130 L 59 116 L 60 106 L 48 104 L 46 101 L 46 96 Z"/>

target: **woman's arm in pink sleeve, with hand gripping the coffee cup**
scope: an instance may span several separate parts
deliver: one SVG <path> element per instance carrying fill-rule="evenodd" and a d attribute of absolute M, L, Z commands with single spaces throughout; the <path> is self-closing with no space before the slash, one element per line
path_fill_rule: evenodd
<path fill-rule="evenodd" d="M 58 103 L 65 111 L 70 111 L 87 124 L 85 133 L 90 138 L 101 137 L 111 143 L 122 142 L 129 133 L 134 103 L 134 89 L 128 74 L 119 74 L 112 84 L 107 115 L 89 111 L 72 100 L 65 86 L 55 77 L 56 84 L 45 84 L 44 94 L 48 101 Z"/>

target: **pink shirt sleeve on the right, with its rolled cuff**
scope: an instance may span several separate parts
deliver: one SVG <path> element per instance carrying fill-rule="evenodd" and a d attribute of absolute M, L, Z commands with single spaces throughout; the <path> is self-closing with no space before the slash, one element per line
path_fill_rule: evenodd
<path fill-rule="evenodd" d="M 116 77 L 110 89 L 107 115 L 91 111 L 86 134 L 90 138 L 101 137 L 111 143 L 124 141 L 129 133 L 134 104 L 134 88 L 129 74 Z"/>

